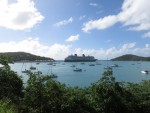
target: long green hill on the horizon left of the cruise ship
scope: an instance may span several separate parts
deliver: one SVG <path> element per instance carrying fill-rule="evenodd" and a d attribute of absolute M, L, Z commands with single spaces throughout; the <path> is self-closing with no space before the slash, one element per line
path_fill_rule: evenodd
<path fill-rule="evenodd" d="M 0 56 L 4 55 L 10 58 L 11 61 L 13 62 L 22 62 L 22 61 L 26 61 L 26 62 L 44 62 L 44 61 L 54 61 L 54 59 L 52 58 L 48 58 L 48 57 L 41 57 L 41 56 L 37 56 L 37 55 L 33 55 L 30 53 L 26 53 L 26 52 L 4 52 L 4 53 L 0 53 Z"/>

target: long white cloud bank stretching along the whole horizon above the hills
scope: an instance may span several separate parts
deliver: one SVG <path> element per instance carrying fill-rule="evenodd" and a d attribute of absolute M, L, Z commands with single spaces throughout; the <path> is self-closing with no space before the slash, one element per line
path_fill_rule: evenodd
<path fill-rule="evenodd" d="M 119 47 L 108 49 L 81 49 L 73 48 L 71 45 L 53 44 L 50 46 L 44 45 L 38 38 L 27 38 L 25 40 L 15 42 L 1 42 L 0 52 L 17 52 L 23 51 L 35 55 L 54 58 L 55 60 L 63 60 L 70 54 L 92 55 L 97 59 L 111 59 L 124 54 L 135 54 L 140 56 L 150 56 L 150 44 L 145 44 L 144 47 L 136 47 L 136 43 L 126 43 Z"/>

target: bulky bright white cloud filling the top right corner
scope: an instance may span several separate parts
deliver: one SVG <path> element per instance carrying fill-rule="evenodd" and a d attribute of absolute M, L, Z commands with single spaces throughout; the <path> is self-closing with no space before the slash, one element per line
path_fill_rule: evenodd
<path fill-rule="evenodd" d="M 150 29 L 149 0 L 125 0 L 122 11 L 117 15 L 119 21 L 130 30 L 140 31 Z"/>

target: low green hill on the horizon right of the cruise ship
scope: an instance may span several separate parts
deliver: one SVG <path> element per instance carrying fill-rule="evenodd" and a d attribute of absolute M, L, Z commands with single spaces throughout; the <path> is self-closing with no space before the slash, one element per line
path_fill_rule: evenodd
<path fill-rule="evenodd" d="M 111 59 L 112 61 L 150 61 L 150 57 L 142 57 L 132 54 L 126 54 L 123 56 L 119 56 Z"/>

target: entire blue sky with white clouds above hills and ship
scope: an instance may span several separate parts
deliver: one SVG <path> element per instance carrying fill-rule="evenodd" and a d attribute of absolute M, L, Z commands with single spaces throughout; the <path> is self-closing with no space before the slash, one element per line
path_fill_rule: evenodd
<path fill-rule="evenodd" d="M 0 52 L 20 51 L 150 56 L 149 0 L 0 0 Z"/>

